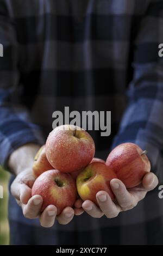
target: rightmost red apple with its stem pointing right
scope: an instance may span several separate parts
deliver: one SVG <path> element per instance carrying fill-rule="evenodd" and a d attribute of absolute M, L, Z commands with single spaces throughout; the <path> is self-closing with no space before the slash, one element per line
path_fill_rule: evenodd
<path fill-rule="evenodd" d="M 127 188 L 135 187 L 141 184 L 143 176 L 151 170 L 146 153 L 134 143 L 123 143 L 111 151 L 106 165 L 114 170 Z"/>

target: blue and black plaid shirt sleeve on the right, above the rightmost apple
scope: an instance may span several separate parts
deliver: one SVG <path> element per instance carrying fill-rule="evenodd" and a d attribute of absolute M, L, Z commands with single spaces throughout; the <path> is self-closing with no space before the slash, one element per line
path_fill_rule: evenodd
<path fill-rule="evenodd" d="M 152 172 L 163 181 L 163 1 L 151 1 L 133 43 L 133 80 L 128 107 L 113 147 L 133 142 L 148 151 Z"/>

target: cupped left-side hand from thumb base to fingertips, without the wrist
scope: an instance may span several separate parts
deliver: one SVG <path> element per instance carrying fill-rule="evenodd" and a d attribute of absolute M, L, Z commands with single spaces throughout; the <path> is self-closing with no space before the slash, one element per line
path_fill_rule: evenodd
<path fill-rule="evenodd" d="M 82 200 L 80 199 L 77 199 L 74 209 L 66 207 L 59 216 L 57 216 L 57 208 L 54 205 L 48 205 L 43 212 L 40 212 L 42 197 L 39 195 L 32 197 L 34 181 L 32 169 L 27 168 L 18 174 L 11 184 L 11 194 L 15 197 L 17 204 L 21 206 L 24 217 L 39 218 L 42 227 L 48 228 L 53 226 L 55 219 L 60 224 L 68 224 L 74 215 L 83 213 Z"/>

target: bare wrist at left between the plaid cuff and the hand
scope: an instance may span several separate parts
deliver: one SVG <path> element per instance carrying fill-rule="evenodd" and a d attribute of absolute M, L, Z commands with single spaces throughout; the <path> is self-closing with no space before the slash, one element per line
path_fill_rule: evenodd
<path fill-rule="evenodd" d="M 11 172 L 17 175 L 24 169 L 32 169 L 34 157 L 40 147 L 39 144 L 28 143 L 16 149 L 8 160 L 8 166 Z"/>

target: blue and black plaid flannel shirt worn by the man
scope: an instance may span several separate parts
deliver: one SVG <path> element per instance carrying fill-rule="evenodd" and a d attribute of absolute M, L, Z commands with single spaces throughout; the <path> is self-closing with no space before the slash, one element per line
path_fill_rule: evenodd
<path fill-rule="evenodd" d="M 45 142 L 52 113 L 69 106 L 70 111 L 111 111 L 111 135 L 91 132 L 96 156 L 105 158 L 111 147 L 134 142 L 147 149 L 161 182 L 162 15 L 162 0 L 0 0 L 1 164 L 21 145 Z M 100 230 L 162 214 L 156 188 L 115 219 L 84 214 L 53 229 Z M 38 224 L 22 216 L 12 197 L 9 217 Z"/>

